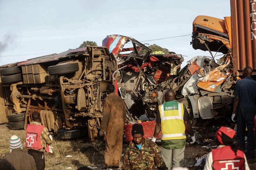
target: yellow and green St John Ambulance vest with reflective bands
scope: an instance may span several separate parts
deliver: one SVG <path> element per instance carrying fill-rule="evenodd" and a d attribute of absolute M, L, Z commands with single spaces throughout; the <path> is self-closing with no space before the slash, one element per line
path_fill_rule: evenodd
<path fill-rule="evenodd" d="M 158 108 L 161 118 L 161 140 L 186 139 L 183 104 L 169 101 Z"/>

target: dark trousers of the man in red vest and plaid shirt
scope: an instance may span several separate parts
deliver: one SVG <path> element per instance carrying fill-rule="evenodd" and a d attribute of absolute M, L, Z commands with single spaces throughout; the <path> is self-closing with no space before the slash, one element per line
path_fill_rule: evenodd
<path fill-rule="evenodd" d="M 44 167 L 45 167 L 44 152 L 36 151 L 34 149 L 28 149 L 28 154 L 35 159 L 36 169 L 44 170 Z"/>

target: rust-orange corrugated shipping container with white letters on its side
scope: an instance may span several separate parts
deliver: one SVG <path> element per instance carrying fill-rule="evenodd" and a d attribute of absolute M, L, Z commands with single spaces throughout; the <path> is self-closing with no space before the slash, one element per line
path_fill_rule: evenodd
<path fill-rule="evenodd" d="M 256 75 L 256 0 L 230 0 L 234 74 L 251 66 Z"/>

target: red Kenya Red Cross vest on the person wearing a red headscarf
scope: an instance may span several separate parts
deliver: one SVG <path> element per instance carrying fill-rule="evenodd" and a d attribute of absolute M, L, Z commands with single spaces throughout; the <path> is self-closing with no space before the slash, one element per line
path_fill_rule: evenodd
<path fill-rule="evenodd" d="M 212 150 L 212 161 L 214 170 L 244 170 L 244 152 L 232 151 L 230 146 Z"/>

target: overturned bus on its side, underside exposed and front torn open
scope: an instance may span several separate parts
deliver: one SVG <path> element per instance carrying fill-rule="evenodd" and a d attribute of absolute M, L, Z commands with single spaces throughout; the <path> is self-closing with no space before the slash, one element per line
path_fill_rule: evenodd
<path fill-rule="evenodd" d="M 132 47 L 124 48 L 129 42 Z M 109 35 L 102 43 L 1 66 L 1 107 L 9 128 L 26 129 L 36 111 L 58 138 L 88 134 L 93 141 L 109 83 L 127 104 L 128 122 L 140 115 L 154 119 L 163 91 L 160 83 L 177 75 L 182 56 L 151 54 L 147 46 L 122 35 Z M 132 102 L 143 111 L 136 115 Z"/>

